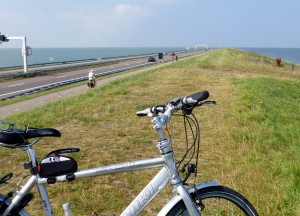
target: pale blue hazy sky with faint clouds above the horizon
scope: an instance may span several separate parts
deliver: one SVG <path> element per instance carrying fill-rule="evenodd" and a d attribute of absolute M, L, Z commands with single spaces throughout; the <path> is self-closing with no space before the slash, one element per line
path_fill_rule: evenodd
<path fill-rule="evenodd" d="M 0 17 L 34 48 L 300 48 L 299 0 L 0 0 Z"/>

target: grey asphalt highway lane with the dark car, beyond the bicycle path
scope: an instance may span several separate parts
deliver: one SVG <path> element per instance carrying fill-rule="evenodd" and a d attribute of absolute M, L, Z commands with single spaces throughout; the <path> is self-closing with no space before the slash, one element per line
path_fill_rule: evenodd
<path fill-rule="evenodd" d="M 190 53 L 182 53 L 179 56 L 183 57 L 185 55 L 188 55 Z M 193 53 L 196 54 L 196 53 Z M 198 54 L 198 53 L 197 53 Z M 169 55 L 165 55 L 164 59 L 169 59 Z M 97 68 L 93 68 L 95 74 L 101 74 L 107 71 L 113 71 L 118 70 L 122 68 L 128 68 L 136 65 L 141 65 L 147 63 L 148 58 L 139 58 L 134 59 L 130 61 L 122 61 L 115 64 L 105 65 Z M 14 80 L 9 82 L 0 83 L 0 99 L 18 95 L 23 92 L 28 92 L 34 88 L 38 88 L 41 86 L 46 86 L 53 83 L 58 83 L 62 81 L 67 81 L 71 79 L 76 79 L 79 77 L 86 77 L 88 75 L 88 72 L 91 69 L 83 69 L 83 70 L 76 70 L 72 72 L 63 72 L 63 73 L 55 73 L 55 74 L 49 74 L 49 75 L 43 75 L 43 76 L 37 76 L 33 78 L 26 78 L 26 79 L 20 79 L 20 80 Z"/>

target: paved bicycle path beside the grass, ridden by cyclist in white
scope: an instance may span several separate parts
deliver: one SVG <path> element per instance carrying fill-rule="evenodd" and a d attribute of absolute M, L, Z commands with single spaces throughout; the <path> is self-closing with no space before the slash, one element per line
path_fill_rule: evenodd
<path fill-rule="evenodd" d="M 117 76 L 109 77 L 109 78 L 106 78 L 106 79 L 103 79 L 103 80 L 98 80 L 96 88 L 100 87 L 100 86 L 102 86 L 102 85 L 104 85 L 108 82 L 111 82 L 113 80 L 128 77 L 128 76 L 131 76 L 131 75 L 134 75 L 134 74 L 143 73 L 143 72 L 155 69 L 155 68 L 160 68 L 160 67 L 166 66 L 166 65 L 171 64 L 171 63 L 172 62 L 164 63 L 164 64 L 160 64 L 160 65 L 155 65 L 155 66 L 147 67 L 147 68 L 140 69 L 140 70 L 137 70 L 137 71 L 132 71 L 132 72 L 128 72 L 128 73 L 125 73 L 125 74 L 120 74 L 120 75 L 117 75 Z M 74 88 L 62 90 L 62 91 L 59 91 L 59 92 L 39 96 L 39 97 L 36 97 L 36 98 L 32 98 L 32 99 L 28 99 L 28 100 L 25 100 L 25 101 L 21 101 L 21 102 L 17 102 L 17 103 L 14 103 L 14 104 L 10 104 L 10 105 L 7 105 L 7 106 L 0 107 L 0 120 L 3 120 L 4 118 L 6 118 L 9 115 L 12 115 L 12 114 L 15 114 L 15 113 L 21 113 L 21 112 L 33 109 L 35 107 L 43 106 L 43 105 L 45 105 L 47 103 L 50 103 L 50 102 L 55 102 L 55 101 L 58 101 L 58 100 L 69 98 L 69 97 L 78 95 L 82 92 L 85 92 L 87 90 L 88 90 L 88 87 L 85 84 L 85 85 L 77 86 L 77 87 L 74 87 Z"/>

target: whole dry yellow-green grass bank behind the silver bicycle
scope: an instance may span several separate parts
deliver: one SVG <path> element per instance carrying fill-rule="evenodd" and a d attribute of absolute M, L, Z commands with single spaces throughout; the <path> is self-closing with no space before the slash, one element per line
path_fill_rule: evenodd
<path fill-rule="evenodd" d="M 197 181 L 218 180 L 245 195 L 261 215 L 300 214 L 299 95 L 300 71 L 288 63 L 234 49 L 215 50 L 160 69 L 113 81 L 85 94 L 9 116 L 6 120 L 34 127 L 53 127 L 61 138 L 35 145 L 38 159 L 65 147 L 79 147 L 72 156 L 79 169 L 156 157 L 156 134 L 149 118 L 137 110 L 177 96 L 208 90 L 217 106 L 195 109 L 201 125 Z M 181 145 L 181 118 L 170 124 L 176 156 Z M 26 154 L 0 149 L 0 174 L 13 170 L 12 182 L 27 174 Z M 54 213 L 66 201 L 75 215 L 119 215 L 157 170 L 115 174 L 49 185 Z M 0 191 L 9 185 L 2 186 Z M 143 213 L 155 215 L 170 197 L 164 191 Z M 38 196 L 36 194 L 36 196 Z M 39 200 L 27 209 L 42 215 Z"/>

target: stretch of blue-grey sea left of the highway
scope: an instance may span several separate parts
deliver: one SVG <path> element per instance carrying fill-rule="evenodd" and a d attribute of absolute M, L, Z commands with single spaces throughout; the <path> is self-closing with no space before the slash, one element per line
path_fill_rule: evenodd
<path fill-rule="evenodd" d="M 31 48 L 28 65 L 55 64 L 185 51 L 186 47 Z M 0 48 L 0 68 L 23 66 L 21 48 Z"/>

